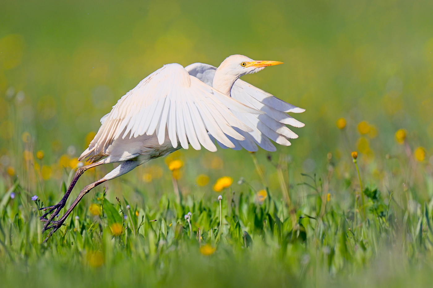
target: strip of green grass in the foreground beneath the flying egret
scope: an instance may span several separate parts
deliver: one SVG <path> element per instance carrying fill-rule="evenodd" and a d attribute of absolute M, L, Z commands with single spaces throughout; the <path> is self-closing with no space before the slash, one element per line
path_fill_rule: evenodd
<path fill-rule="evenodd" d="M 358 160 L 361 164 L 367 159 Z M 393 161 L 386 161 L 391 170 Z M 400 161 L 403 171 L 384 170 L 395 174 L 387 185 L 402 181 L 400 172 L 406 169 L 419 180 L 432 181 L 430 164 L 404 155 Z M 284 166 L 279 164 L 276 170 Z M 217 194 L 211 198 L 184 194 L 178 204 L 168 190 L 157 204 L 145 198 L 129 203 L 99 189 L 86 196 L 47 243 L 42 243 L 47 233 L 41 234 L 37 208 L 41 200 L 54 204 L 62 192 L 45 191 L 56 196 L 32 201 L 18 178 L 3 179 L 2 285 L 391 287 L 394 283 L 404 287 L 416 281 L 422 286 L 430 279 L 427 271 L 433 264 L 433 202 L 417 201 L 416 188 L 380 192 L 370 185 L 364 190 L 364 216 L 360 199 L 355 210 L 360 191 L 349 188 L 350 181 L 358 180 L 355 165 L 346 182 L 335 178 L 334 165 L 330 159 L 324 176 L 300 175 L 302 181 L 289 186 L 289 201 L 268 189 L 259 202 L 258 192 L 245 180 L 238 192 L 224 190 L 221 230 Z M 281 169 L 283 176 L 287 173 Z M 6 191 L 10 181 L 15 184 Z M 185 218 L 188 212 L 191 228 Z"/>

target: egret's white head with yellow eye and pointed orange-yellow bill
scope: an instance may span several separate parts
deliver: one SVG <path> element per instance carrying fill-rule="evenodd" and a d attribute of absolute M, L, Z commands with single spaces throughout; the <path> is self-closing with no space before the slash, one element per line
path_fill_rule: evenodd
<path fill-rule="evenodd" d="M 227 57 L 218 67 L 224 70 L 226 74 L 232 74 L 235 77 L 241 77 L 246 74 L 259 72 L 267 66 L 283 64 L 279 61 L 254 61 L 244 55 L 231 55 Z"/>

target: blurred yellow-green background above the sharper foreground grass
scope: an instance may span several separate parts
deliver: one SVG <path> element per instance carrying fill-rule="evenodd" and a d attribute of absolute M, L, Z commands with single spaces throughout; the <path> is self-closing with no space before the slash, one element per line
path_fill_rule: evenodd
<path fill-rule="evenodd" d="M 100 117 L 140 80 L 163 64 L 218 66 L 231 54 L 284 61 L 242 79 L 307 110 L 294 115 L 306 124 L 294 128 L 300 137 L 272 154 L 274 159 L 288 155 L 297 172 L 325 170 L 329 152 L 339 160 L 359 150 L 374 163 L 369 171 L 378 174 L 385 154 L 400 148 L 394 139 L 400 128 L 414 148 L 423 147 L 428 161 L 432 6 L 426 0 L 2 1 L 0 171 L 5 178 L 16 174 L 36 183 L 37 177 L 26 174 L 36 163 L 48 185 L 58 187 L 68 176 L 62 166 L 76 165 Z M 336 127 L 342 117 L 344 133 Z M 358 127 L 362 121 L 364 130 Z M 39 150 L 44 157 L 33 162 Z M 260 186 L 245 150 L 181 153 L 189 179 L 200 173 L 209 175 L 210 183 L 243 176 Z M 269 185 L 277 189 L 266 156 L 257 153 Z M 170 179 L 163 161 L 147 165 L 162 173 L 149 178 L 140 167 L 121 179 L 138 179 L 132 181 L 161 194 L 164 189 L 149 180 Z M 101 169 L 102 175 L 110 167 Z M 195 191 L 192 183 L 184 186 L 184 192 Z"/>

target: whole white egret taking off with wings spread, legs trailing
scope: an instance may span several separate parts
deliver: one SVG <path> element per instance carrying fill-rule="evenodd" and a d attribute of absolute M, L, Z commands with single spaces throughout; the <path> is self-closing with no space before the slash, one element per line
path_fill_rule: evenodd
<path fill-rule="evenodd" d="M 203 63 L 187 67 L 173 63 L 150 74 L 101 118 L 96 136 L 79 157 L 79 160 L 87 158 L 92 163 L 77 170 L 57 205 L 41 208 L 48 210 L 40 217 L 45 222 L 43 231 L 52 228 L 50 237 L 95 186 L 153 158 L 166 156 L 181 147 L 188 149 L 189 144 L 196 150 L 202 145 L 210 151 L 216 151 L 215 142 L 224 149 L 240 150 L 243 147 L 248 151 L 258 150 L 257 145 L 275 151 L 269 139 L 290 145 L 288 139 L 297 138 L 297 134 L 286 124 L 294 127 L 304 124 L 287 112 L 305 110 L 239 79 L 242 75 L 278 64 L 282 62 L 254 61 L 243 55 L 232 55 L 218 68 Z M 85 186 L 60 220 L 52 220 L 65 206 L 84 171 L 114 162 L 120 162 L 120 165 Z M 45 218 L 49 213 L 51 216 Z"/>

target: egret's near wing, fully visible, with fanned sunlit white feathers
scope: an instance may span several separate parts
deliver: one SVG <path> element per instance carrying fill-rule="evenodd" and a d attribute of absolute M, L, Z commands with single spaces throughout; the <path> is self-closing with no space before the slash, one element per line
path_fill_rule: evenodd
<path fill-rule="evenodd" d="M 252 128 L 233 112 L 262 113 L 190 76 L 180 64 L 167 64 L 143 79 L 101 118 L 99 131 L 80 159 L 103 156 L 119 137 L 156 133 L 159 144 L 163 144 L 166 127 L 174 148 L 179 141 L 184 149 L 188 149 L 189 142 L 196 150 L 201 149 L 201 144 L 216 151 L 210 137 L 234 148 L 229 137 L 242 141 L 239 131 Z"/>

